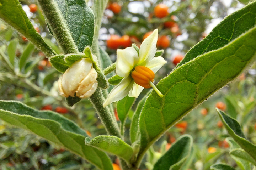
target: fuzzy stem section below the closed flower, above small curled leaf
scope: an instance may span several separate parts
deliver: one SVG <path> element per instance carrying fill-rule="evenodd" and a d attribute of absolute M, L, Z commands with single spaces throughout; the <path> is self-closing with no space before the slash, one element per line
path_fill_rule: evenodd
<path fill-rule="evenodd" d="M 112 113 L 108 107 L 103 107 L 103 102 L 105 100 L 102 90 L 97 88 L 94 94 L 90 97 L 91 103 L 97 111 L 103 125 L 105 126 L 109 135 L 121 137 L 117 121 L 114 120 Z"/>

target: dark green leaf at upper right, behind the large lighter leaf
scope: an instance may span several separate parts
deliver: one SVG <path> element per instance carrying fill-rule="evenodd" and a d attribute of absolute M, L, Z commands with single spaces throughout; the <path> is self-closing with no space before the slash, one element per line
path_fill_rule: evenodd
<path fill-rule="evenodd" d="M 177 64 L 176 68 L 204 53 L 224 47 L 229 42 L 238 38 L 242 33 L 253 28 L 256 23 L 255 13 L 256 1 L 227 16 L 213 28 L 212 32 L 206 38 L 186 53 L 184 59 Z"/>

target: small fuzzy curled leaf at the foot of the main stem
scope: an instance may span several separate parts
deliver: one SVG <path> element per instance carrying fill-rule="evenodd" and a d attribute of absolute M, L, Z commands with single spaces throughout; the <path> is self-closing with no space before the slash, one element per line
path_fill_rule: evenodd
<path fill-rule="evenodd" d="M 110 154 L 116 155 L 126 160 L 127 162 L 129 162 L 133 156 L 132 147 L 116 136 L 96 136 L 90 142 L 85 144 L 95 147 L 101 151 L 105 151 Z"/>

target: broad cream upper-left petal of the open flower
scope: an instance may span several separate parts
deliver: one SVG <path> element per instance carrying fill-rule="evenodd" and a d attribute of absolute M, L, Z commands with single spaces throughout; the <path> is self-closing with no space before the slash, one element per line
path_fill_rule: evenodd
<path fill-rule="evenodd" d="M 133 47 L 117 49 L 116 73 L 120 77 L 127 77 L 135 64 L 138 63 L 139 56 Z"/>

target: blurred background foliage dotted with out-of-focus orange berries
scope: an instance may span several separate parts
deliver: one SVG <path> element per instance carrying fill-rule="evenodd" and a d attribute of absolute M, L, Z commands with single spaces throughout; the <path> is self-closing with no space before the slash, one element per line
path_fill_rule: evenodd
<path fill-rule="evenodd" d="M 44 40 L 57 53 L 62 53 L 50 34 L 36 1 L 20 0 L 23 9 Z M 87 1 L 92 6 L 92 1 Z M 161 4 L 160 6 L 158 4 Z M 110 1 L 100 29 L 100 45 L 116 60 L 116 49 L 132 43 L 140 46 L 143 39 L 155 28 L 159 29 L 158 49 L 164 49 L 167 64 L 158 72 L 155 80 L 164 78 L 184 54 L 202 40 L 225 16 L 242 8 L 235 0 L 144 0 Z M 11 63 L 9 58 L 13 57 Z M 180 123 L 171 128 L 150 148 L 141 170 L 149 169 L 182 134 L 193 137 L 194 153 L 191 170 L 209 170 L 214 163 L 227 163 L 240 169 L 229 155 L 229 137 L 215 107 L 237 119 L 246 137 L 256 143 L 256 70 L 224 87 L 191 111 Z M 67 107 L 58 95 L 57 80 L 60 76 L 48 59 L 13 28 L 0 20 L 0 96 L 1 100 L 18 100 L 36 109 L 48 109 L 75 121 L 89 136 L 106 134 L 100 120 L 88 100 L 81 100 Z M 126 121 L 125 138 L 129 143 L 129 126 L 139 96 Z M 115 106 L 115 104 L 114 104 Z M 116 113 L 116 109 L 115 109 Z M 116 118 L 118 116 L 116 113 Z M 111 157 L 118 170 L 118 161 Z M 0 169 L 1 170 L 94 170 L 93 165 L 64 148 L 60 148 L 27 131 L 0 121 Z"/>

